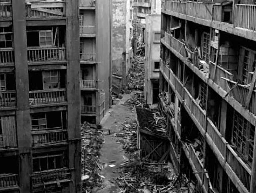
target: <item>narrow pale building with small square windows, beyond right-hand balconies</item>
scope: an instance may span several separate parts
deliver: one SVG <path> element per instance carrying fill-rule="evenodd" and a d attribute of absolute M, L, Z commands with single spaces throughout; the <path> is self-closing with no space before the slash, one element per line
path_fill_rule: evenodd
<path fill-rule="evenodd" d="M 149 105 L 158 103 L 161 15 L 146 16 L 144 96 Z"/>

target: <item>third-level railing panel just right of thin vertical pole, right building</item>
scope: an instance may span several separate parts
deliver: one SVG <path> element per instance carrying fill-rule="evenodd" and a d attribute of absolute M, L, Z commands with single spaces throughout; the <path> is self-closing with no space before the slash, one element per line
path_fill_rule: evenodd
<path fill-rule="evenodd" d="M 218 150 L 221 152 L 223 158 L 225 158 L 227 141 L 225 138 L 223 138 L 221 133 L 217 130 L 209 118 L 207 118 L 207 133 L 214 144 L 217 146 Z"/>

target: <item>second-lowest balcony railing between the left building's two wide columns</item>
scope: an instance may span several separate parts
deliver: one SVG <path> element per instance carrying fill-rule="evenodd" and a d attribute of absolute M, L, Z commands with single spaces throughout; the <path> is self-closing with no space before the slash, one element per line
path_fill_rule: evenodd
<path fill-rule="evenodd" d="M 67 130 L 32 131 L 32 141 L 35 145 L 59 143 L 67 139 Z"/>

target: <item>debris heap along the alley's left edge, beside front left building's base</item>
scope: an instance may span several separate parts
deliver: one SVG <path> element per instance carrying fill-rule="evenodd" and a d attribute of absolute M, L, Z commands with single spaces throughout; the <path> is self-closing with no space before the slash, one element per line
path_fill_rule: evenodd
<path fill-rule="evenodd" d="M 81 127 L 81 165 L 82 192 L 90 193 L 94 187 L 101 186 L 102 178 L 99 167 L 99 150 L 103 143 L 103 133 L 95 124 L 84 122 Z"/>

